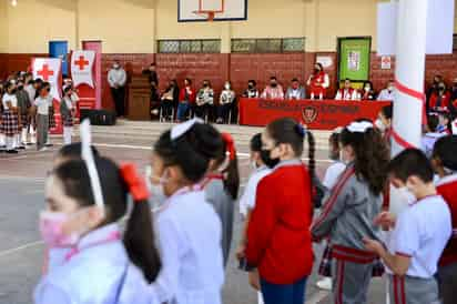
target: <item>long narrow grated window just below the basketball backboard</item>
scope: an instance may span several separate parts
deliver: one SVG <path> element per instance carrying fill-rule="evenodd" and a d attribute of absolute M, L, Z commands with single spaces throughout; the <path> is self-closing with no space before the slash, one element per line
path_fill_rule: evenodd
<path fill-rule="evenodd" d="M 159 40 L 159 53 L 220 53 L 221 40 Z"/>

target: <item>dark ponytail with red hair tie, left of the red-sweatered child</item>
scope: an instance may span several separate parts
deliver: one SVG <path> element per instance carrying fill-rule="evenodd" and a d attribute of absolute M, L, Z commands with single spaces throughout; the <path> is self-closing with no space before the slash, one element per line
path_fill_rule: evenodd
<path fill-rule="evenodd" d="M 228 164 L 224 169 L 224 188 L 230 193 L 233 200 L 238 196 L 240 190 L 240 172 L 238 172 L 238 158 L 236 155 L 235 142 L 228 133 L 222 133 L 222 140 L 224 141 L 224 156 L 228 153 Z"/>

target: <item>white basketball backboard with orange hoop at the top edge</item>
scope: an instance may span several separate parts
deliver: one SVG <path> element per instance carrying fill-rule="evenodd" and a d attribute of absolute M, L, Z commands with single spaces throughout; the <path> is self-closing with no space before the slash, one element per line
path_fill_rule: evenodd
<path fill-rule="evenodd" d="M 231 21 L 247 19 L 247 0 L 177 0 L 177 21 Z M 212 20 L 211 20 L 212 21 Z"/>

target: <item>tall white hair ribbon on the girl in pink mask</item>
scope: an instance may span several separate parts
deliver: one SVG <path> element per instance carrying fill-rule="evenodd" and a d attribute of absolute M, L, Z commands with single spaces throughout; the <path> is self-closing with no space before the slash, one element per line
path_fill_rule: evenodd
<path fill-rule="evenodd" d="M 81 158 L 84 160 L 88 166 L 89 178 L 91 182 L 93 197 L 95 205 L 104 210 L 102 186 L 100 184 L 99 172 L 97 171 L 95 161 L 92 153 L 92 135 L 91 123 L 89 119 L 85 119 L 80 125 L 81 134 Z"/>

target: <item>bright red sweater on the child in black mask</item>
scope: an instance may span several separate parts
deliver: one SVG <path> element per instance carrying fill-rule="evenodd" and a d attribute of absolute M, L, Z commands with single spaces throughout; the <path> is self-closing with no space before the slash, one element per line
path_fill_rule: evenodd
<path fill-rule="evenodd" d="M 280 165 L 258 183 L 246 257 L 270 283 L 292 284 L 312 272 L 309 183 L 303 164 Z"/>

